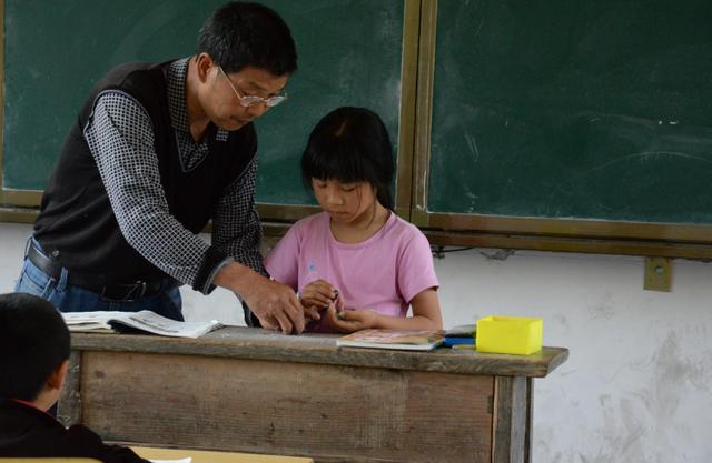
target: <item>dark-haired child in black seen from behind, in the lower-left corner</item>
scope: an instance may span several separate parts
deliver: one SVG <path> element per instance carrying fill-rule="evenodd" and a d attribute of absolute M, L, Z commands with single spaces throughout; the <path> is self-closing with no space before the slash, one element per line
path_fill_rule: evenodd
<path fill-rule="evenodd" d="M 107 445 L 82 425 L 66 429 L 47 413 L 68 368 L 69 330 L 52 304 L 30 294 L 0 294 L 0 456 L 147 463 L 130 449 Z"/>

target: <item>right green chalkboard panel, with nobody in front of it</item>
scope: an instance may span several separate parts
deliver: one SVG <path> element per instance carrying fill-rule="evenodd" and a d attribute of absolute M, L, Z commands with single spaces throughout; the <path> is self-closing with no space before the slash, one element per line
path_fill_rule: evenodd
<path fill-rule="evenodd" d="M 712 2 L 439 0 L 428 213 L 712 223 Z"/>

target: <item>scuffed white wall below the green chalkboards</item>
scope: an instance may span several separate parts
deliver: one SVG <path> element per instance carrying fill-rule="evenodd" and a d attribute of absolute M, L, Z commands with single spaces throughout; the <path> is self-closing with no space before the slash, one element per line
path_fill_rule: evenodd
<path fill-rule="evenodd" d="M 29 225 L 0 223 L 0 292 Z M 644 291 L 642 258 L 471 250 L 436 260 L 446 326 L 544 319 L 568 361 L 535 380 L 537 463 L 712 462 L 712 264 L 676 260 L 673 291 Z M 182 292 L 188 319 L 243 323 L 233 294 Z"/>

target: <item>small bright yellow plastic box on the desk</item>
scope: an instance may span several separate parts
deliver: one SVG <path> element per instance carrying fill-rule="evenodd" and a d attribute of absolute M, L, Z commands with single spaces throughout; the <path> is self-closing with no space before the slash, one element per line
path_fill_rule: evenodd
<path fill-rule="evenodd" d="M 524 316 L 485 316 L 477 320 L 478 352 L 528 355 L 542 350 L 544 321 Z"/>

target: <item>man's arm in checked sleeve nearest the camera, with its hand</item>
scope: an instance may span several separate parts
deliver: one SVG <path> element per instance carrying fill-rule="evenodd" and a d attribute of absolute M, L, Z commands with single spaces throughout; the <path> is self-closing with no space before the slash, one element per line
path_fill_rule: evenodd
<path fill-rule="evenodd" d="M 169 213 L 154 151 L 151 120 L 136 100 L 120 92 L 102 94 L 85 137 L 129 245 L 194 288 L 211 288 L 208 279 L 215 278 L 215 284 L 240 294 L 268 328 L 304 330 L 304 315 L 296 296 L 299 311 L 295 313 L 290 289 L 227 261 L 225 251 L 207 244 Z"/>

